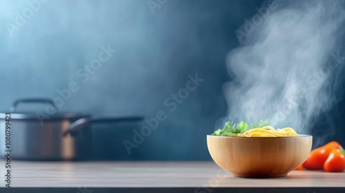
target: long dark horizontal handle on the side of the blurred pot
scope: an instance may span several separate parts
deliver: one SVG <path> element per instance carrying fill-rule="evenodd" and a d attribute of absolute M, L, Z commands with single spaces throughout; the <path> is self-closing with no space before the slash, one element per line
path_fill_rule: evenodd
<path fill-rule="evenodd" d="M 131 121 L 142 121 L 144 119 L 143 116 L 128 116 L 128 117 L 103 117 L 97 119 L 90 119 L 90 118 L 81 118 L 77 121 L 70 124 L 70 127 L 66 132 L 63 132 L 63 136 L 66 136 L 70 133 L 72 136 L 75 136 L 83 130 L 87 125 L 94 124 L 94 123 L 121 123 L 121 122 L 131 122 Z"/>

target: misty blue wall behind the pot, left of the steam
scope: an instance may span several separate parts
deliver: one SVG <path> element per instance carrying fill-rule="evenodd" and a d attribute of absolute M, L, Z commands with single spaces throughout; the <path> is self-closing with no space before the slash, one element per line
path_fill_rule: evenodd
<path fill-rule="evenodd" d="M 28 2 L 36 2 L 34 11 Z M 132 141 L 132 130 L 145 124 L 95 125 L 100 158 L 210 159 L 206 134 L 226 115 L 226 54 L 238 45 L 235 29 L 261 1 L 169 0 L 154 10 L 135 0 L 37 2 L 0 1 L 1 111 L 23 97 L 54 99 L 74 81 L 79 90 L 63 100 L 61 112 L 148 118 L 166 113 L 130 155 L 123 141 Z M 87 72 L 88 79 L 80 77 L 102 45 L 116 52 L 94 74 Z M 176 110 L 164 105 L 196 73 L 204 81 Z"/>

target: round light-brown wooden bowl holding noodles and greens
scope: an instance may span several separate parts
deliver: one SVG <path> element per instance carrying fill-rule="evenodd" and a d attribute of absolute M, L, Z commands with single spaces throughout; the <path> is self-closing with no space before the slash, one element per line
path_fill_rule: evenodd
<path fill-rule="evenodd" d="M 238 177 L 281 177 L 301 165 L 313 136 L 207 136 L 208 152 L 219 167 Z"/>

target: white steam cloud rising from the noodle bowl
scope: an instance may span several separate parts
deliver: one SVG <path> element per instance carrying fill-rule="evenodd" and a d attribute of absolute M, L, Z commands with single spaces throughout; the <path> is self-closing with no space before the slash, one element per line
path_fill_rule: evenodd
<path fill-rule="evenodd" d="M 224 85 L 226 119 L 264 119 L 308 134 L 315 118 L 343 92 L 344 2 L 275 3 L 274 12 L 228 54 L 232 80 Z M 216 123 L 219 128 L 220 122 L 224 119 Z"/>

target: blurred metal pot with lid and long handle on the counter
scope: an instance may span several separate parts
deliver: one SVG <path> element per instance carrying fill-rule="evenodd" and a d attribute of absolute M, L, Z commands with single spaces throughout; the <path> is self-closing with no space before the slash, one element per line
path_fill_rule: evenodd
<path fill-rule="evenodd" d="M 1 157 L 12 150 L 19 160 L 86 160 L 92 158 L 92 123 L 140 121 L 143 117 L 92 119 L 88 114 L 57 113 L 39 121 L 36 112 L 17 112 L 19 103 L 46 103 L 50 99 L 19 99 L 11 107 L 10 149 L 6 146 L 6 113 L 0 113 Z M 57 109 L 57 108 L 56 108 Z M 8 134 L 7 134 L 8 135 Z"/>

